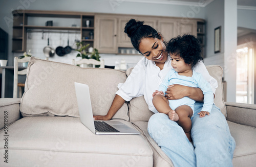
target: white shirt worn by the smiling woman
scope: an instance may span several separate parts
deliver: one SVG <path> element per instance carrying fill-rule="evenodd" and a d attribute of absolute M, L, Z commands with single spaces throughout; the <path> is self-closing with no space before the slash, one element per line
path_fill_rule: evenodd
<path fill-rule="evenodd" d="M 134 67 L 131 75 L 127 77 L 126 81 L 118 84 L 119 90 L 116 92 L 116 94 L 127 102 L 133 98 L 144 95 L 148 109 L 154 113 L 157 113 L 158 111 L 152 103 L 152 94 L 158 89 L 169 70 L 173 69 L 171 61 L 172 60 L 170 57 L 167 56 L 163 69 L 160 70 L 154 61 L 147 60 L 145 57 L 143 57 Z M 210 83 L 212 91 L 215 92 L 216 88 L 218 87 L 218 83 L 209 75 L 204 63 L 200 61 L 194 70 L 197 73 L 202 74 L 204 79 Z"/>

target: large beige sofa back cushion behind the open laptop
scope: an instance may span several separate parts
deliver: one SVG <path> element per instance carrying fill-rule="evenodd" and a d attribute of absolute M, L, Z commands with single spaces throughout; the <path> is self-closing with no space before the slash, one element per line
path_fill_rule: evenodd
<path fill-rule="evenodd" d="M 74 82 L 89 85 L 94 115 L 105 115 L 112 104 L 123 71 L 107 68 L 80 68 L 75 65 L 31 58 L 25 93 L 20 104 L 23 116 L 79 116 Z M 129 120 L 127 104 L 113 118 Z"/>

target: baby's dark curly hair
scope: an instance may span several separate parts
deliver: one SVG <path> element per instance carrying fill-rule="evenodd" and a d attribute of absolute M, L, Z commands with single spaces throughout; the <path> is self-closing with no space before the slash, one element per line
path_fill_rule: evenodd
<path fill-rule="evenodd" d="M 201 57 L 202 46 L 194 35 L 184 34 L 170 39 L 166 44 L 166 51 L 170 55 L 179 55 L 185 63 L 191 64 L 192 68 L 200 60 L 203 60 Z"/>

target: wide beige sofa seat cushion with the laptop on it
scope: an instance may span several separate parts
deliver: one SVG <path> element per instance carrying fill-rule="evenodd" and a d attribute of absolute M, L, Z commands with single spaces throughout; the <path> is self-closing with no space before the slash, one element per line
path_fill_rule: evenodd
<path fill-rule="evenodd" d="M 24 117 L 8 132 L 11 166 L 153 166 L 153 152 L 141 134 L 95 135 L 77 117 Z M 4 140 L 0 143 L 3 153 Z"/>

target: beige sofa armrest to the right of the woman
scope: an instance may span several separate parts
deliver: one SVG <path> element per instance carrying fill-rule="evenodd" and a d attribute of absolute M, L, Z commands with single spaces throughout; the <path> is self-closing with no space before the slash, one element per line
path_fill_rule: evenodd
<path fill-rule="evenodd" d="M 225 102 L 227 121 L 256 128 L 256 105 Z"/>

